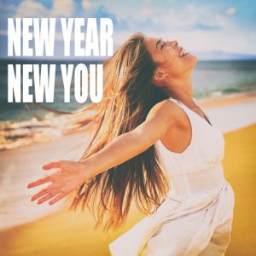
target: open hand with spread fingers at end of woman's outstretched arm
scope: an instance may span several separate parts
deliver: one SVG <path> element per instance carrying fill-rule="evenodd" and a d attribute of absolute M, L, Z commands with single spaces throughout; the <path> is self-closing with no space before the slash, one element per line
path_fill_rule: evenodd
<path fill-rule="evenodd" d="M 46 177 L 41 177 L 38 180 L 27 184 L 27 188 L 31 189 L 44 183 L 51 183 L 48 187 L 42 189 L 36 195 L 31 197 L 31 201 L 40 198 L 38 204 L 55 196 L 54 199 L 49 201 L 49 205 L 53 205 L 90 178 L 88 173 L 86 173 L 86 170 L 84 170 L 84 164 L 81 162 L 60 160 L 50 162 L 49 164 L 42 166 L 42 168 L 44 170 L 58 168 L 58 172 Z"/>

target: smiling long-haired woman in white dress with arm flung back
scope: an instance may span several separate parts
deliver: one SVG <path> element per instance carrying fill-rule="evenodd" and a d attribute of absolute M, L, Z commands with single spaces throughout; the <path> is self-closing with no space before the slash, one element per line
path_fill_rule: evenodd
<path fill-rule="evenodd" d="M 84 110 L 95 110 L 84 119 L 95 133 L 83 157 L 44 165 L 58 172 L 28 184 L 51 183 L 31 200 L 54 204 L 75 192 L 70 209 L 91 201 L 96 227 L 108 216 L 108 230 L 124 223 L 134 198 L 148 216 L 110 243 L 112 255 L 222 255 L 234 194 L 224 137 L 193 97 L 196 62 L 177 41 L 132 35 L 104 63 L 102 102 Z"/>

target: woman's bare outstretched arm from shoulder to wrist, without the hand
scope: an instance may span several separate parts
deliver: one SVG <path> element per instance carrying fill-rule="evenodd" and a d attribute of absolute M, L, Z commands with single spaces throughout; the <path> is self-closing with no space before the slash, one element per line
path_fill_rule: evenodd
<path fill-rule="evenodd" d="M 106 147 L 84 160 L 84 172 L 89 172 L 94 177 L 100 172 L 105 172 L 113 166 L 130 160 L 137 154 L 163 137 L 175 119 L 170 105 L 172 102 L 160 102 L 148 113 L 147 119 L 133 131 L 124 133 L 113 139 Z"/>

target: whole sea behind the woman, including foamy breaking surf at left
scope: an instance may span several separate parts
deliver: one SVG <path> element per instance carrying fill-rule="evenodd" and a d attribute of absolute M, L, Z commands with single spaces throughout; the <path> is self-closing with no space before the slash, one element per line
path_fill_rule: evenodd
<path fill-rule="evenodd" d="M 44 106 L 59 111 L 74 111 L 84 108 L 88 100 L 76 102 L 71 85 L 71 102 L 64 102 L 64 87 L 60 64 L 77 64 L 81 61 L 0 61 L 0 150 L 19 148 L 34 142 L 48 141 L 65 134 L 56 127 L 67 126 L 67 115 L 56 115 L 38 108 L 33 103 L 8 102 L 8 64 L 56 64 L 55 102 Z M 100 63 L 85 61 L 86 67 Z M 256 90 L 256 61 L 198 61 L 192 73 L 193 91 L 196 99 L 224 96 L 236 92 Z M 32 93 L 32 91 L 30 91 Z M 53 124 L 56 124 L 53 127 Z M 69 122 L 72 123 L 72 122 Z M 61 125 L 60 125 L 61 124 Z"/>

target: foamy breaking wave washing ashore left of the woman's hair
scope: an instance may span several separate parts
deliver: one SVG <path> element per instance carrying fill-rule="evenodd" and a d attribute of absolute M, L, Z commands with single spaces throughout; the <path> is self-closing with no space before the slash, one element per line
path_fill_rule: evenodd
<path fill-rule="evenodd" d="M 89 113 L 90 115 L 93 113 Z M 32 119 L 0 123 L 0 150 L 20 148 L 32 143 L 55 140 L 67 134 L 84 131 L 84 115 L 81 109 L 73 114 L 47 113 L 44 119 Z"/>

